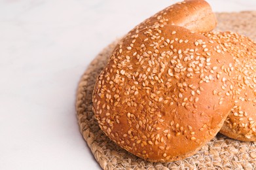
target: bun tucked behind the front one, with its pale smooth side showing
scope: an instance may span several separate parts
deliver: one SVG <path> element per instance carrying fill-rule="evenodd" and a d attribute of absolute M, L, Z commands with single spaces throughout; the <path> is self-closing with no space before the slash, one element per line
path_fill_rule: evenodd
<path fill-rule="evenodd" d="M 215 14 L 204 0 L 187 0 L 176 3 L 156 13 L 137 25 L 135 29 L 144 29 L 149 25 L 178 25 L 191 31 L 203 33 L 211 31 L 217 25 Z"/>

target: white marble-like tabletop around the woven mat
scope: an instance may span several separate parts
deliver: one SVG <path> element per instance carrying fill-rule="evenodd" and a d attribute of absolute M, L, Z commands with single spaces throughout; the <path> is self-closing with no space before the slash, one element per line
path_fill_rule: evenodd
<path fill-rule="evenodd" d="M 0 0 L 0 169 L 100 169 L 75 92 L 90 61 L 167 0 Z M 216 12 L 255 0 L 209 0 Z"/>

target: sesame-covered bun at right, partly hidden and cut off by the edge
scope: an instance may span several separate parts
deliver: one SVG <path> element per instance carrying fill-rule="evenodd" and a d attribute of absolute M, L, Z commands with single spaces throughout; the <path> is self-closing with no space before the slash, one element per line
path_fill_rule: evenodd
<path fill-rule="evenodd" d="M 256 43 L 232 32 L 204 34 L 234 58 L 236 99 L 221 133 L 240 141 L 256 141 Z"/>

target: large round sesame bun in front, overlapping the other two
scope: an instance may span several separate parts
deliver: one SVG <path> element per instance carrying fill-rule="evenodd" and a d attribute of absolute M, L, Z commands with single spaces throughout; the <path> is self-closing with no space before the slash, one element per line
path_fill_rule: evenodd
<path fill-rule="evenodd" d="M 179 5 L 186 10 L 195 2 L 205 3 Z M 221 129 L 234 99 L 232 56 L 204 35 L 162 22 L 165 13 L 137 25 L 119 42 L 93 93 L 104 133 L 149 161 L 194 154 Z"/>

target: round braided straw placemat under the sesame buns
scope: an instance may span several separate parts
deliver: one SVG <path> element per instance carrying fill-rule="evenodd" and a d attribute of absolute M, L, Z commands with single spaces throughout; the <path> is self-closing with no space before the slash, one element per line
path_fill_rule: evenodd
<path fill-rule="evenodd" d="M 256 11 L 219 13 L 217 19 L 217 30 L 236 31 L 256 41 Z M 256 169 L 256 142 L 236 141 L 221 134 L 194 156 L 170 163 L 153 163 L 137 158 L 105 136 L 92 112 L 92 91 L 115 44 L 117 41 L 103 49 L 90 63 L 77 91 L 80 131 L 102 169 Z"/>

